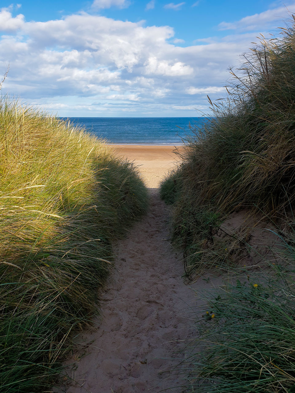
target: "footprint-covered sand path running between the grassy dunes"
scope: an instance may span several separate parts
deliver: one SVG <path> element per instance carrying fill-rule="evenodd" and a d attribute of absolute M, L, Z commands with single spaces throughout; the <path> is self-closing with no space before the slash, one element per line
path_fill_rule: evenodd
<path fill-rule="evenodd" d="M 137 163 L 152 187 L 159 183 L 155 175 L 162 177 L 168 165 Z M 94 321 L 97 327 L 78 338 L 87 345 L 68 360 L 77 361 L 77 367 L 68 372 L 63 392 L 181 391 L 181 377 L 165 373 L 176 362 L 165 358 L 183 346 L 175 340 L 194 334 L 187 310 L 194 307 L 195 295 L 184 285 L 181 257 L 167 240 L 168 208 L 158 188 L 149 193 L 149 212 L 116 246 L 118 271 L 101 296 L 103 321 Z"/>

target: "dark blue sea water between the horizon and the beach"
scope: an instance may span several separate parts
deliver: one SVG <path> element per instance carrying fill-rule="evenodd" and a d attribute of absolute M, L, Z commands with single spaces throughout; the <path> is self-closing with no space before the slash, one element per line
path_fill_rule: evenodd
<path fill-rule="evenodd" d="M 179 144 L 206 118 L 68 118 L 109 143 Z"/>

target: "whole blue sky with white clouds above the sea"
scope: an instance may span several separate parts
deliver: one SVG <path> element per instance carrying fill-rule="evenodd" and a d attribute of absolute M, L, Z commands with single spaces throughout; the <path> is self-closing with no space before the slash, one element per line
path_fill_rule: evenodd
<path fill-rule="evenodd" d="M 2 95 L 65 117 L 196 117 L 295 1 L 0 0 Z"/>

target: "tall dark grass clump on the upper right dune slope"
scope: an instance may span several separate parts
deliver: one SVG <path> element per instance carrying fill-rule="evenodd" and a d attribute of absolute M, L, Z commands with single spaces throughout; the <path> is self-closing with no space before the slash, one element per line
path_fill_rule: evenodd
<path fill-rule="evenodd" d="M 230 70 L 227 96 L 209 99 L 212 117 L 192 127 L 183 162 L 161 185 L 172 204 L 172 239 L 188 255 L 206 239 L 202 211 L 225 219 L 246 209 L 277 220 L 295 202 L 294 20 L 242 59 Z"/>

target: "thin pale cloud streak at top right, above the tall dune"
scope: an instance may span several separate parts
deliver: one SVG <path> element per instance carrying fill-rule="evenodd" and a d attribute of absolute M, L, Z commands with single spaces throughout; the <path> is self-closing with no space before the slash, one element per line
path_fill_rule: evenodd
<path fill-rule="evenodd" d="M 289 4 L 288 8 L 294 8 L 295 3 Z M 272 26 L 276 22 L 282 24 L 282 19 L 288 16 L 287 7 L 277 7 L 274 9 L 268 9 L 267 11 L 259 14 L 244 17 L 235 22 L 221 22 L 218 25 L 219 30 L 242 30 L 242 31 L 253 31 L 269 28 L 269 24 Z"/>

